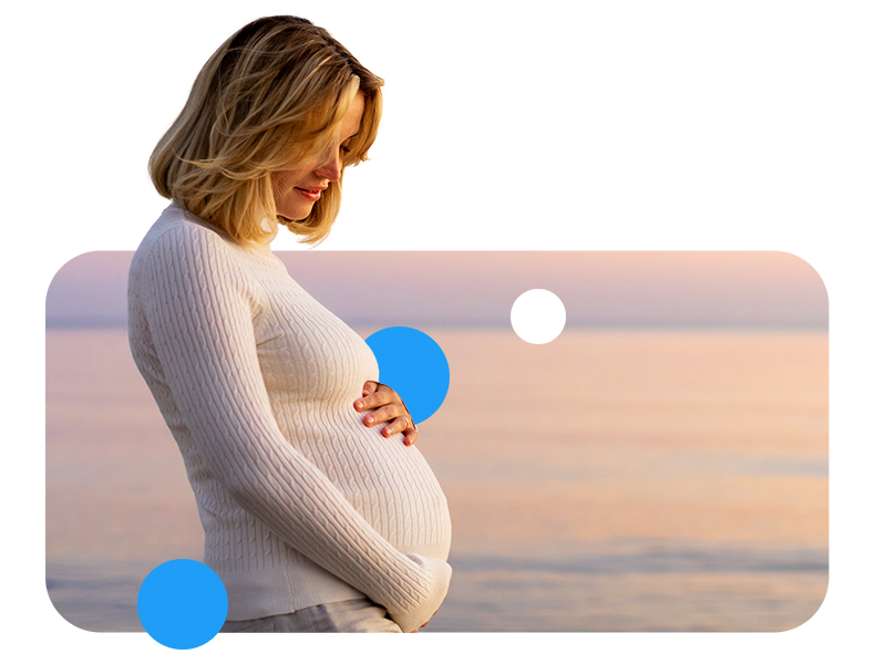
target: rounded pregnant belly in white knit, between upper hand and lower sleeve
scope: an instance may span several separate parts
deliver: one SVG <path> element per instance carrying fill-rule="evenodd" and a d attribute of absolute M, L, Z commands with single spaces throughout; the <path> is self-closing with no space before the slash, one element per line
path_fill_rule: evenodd
<path fill-rule="evenodd" d="M 334 428 L 347 436 L 315 432 L 311 460 L 399 550 L 445 559 L 452 537 L 446 498 L 419 448 L 403 445 L 402 435 L 384 438 L 381 426 L 365 427 L 356 413 L 340 425 Z"/>

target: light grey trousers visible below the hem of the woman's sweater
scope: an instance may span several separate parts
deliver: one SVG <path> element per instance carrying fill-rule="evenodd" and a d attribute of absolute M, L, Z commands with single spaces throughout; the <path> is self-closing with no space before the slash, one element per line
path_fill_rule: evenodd
<path fill-rule="evenodd" d="M 286 615 L 229 620 L 222 632 L 402 632 L 383 606 L 371 600 L 347 600 L 299 609 Z"/>

